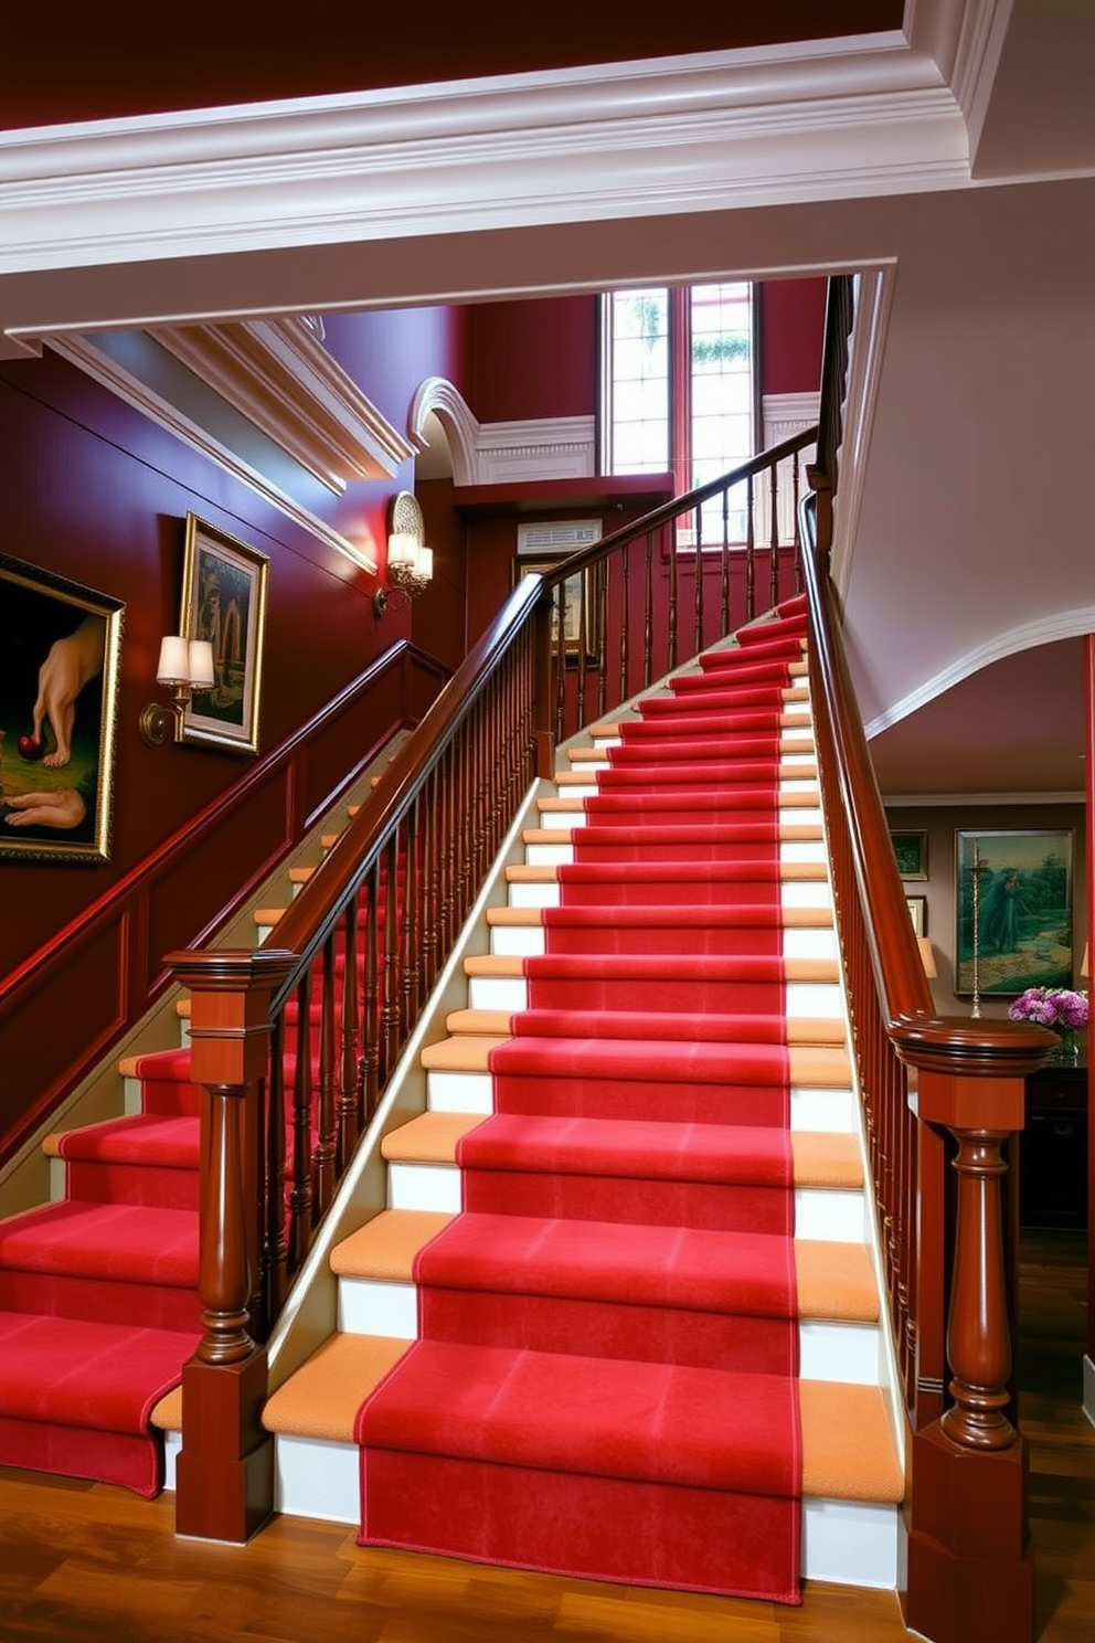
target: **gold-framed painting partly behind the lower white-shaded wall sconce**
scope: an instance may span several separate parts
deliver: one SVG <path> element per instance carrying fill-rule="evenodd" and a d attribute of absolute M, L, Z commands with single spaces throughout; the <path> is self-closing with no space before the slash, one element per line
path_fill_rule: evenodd
<path fill-rule="evenodd" d="M 179 633 L 208 639 L 213 683 L 190 697 L 182 741 L 258 752 L 268 573 L 264 554 L 187 514 Z"/>

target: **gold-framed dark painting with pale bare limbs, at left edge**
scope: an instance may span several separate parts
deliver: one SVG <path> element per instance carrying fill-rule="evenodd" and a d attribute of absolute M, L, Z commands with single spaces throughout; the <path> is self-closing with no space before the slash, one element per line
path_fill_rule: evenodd
<path fill-rule="evenodd" d="M 0 856 L 110 861 L 125 605 L 0 554 Z"/>

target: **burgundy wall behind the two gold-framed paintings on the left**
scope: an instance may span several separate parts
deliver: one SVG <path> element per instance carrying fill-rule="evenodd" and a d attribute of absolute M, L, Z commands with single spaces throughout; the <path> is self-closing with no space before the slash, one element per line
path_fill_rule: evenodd
<path fill-rule="evenodd" d="M 159 637 L 179 624 L 187 511 L 269 555 L 261 752 L 337 695 L 407 624 L 381 629 L 371 608 L 373 577 L 49 353 L 0 370 L 0 445 L 3 550 L 125 601 L 112 861 L 3 863 L 2 976 L 248 767 L 245 757 L 197 746 L 151 749 L 138 733 L 141 706 L 161 695 Z M 383 537 L 396 488 L 394 481 L 351 486 L 356 495 L 332 511 L 351 506 Z M 458 621 L 460 636 L 461 629 Z"/>

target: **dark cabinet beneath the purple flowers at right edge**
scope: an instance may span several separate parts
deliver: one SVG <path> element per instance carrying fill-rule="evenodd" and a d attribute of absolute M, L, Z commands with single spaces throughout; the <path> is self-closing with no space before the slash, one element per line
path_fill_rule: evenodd
<path fill-rule="evenodd" d="M 1019 1226 L 1087 1226 L 1087 1066 L 1042 1066 L 1026 1079 Z"/>

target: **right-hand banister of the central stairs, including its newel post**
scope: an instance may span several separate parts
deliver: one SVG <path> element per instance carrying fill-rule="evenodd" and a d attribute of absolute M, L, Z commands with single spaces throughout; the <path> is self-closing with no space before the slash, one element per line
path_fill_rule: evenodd
<path fill-rule="evenodd" d="M 905 1612 L 937 1643 L 1029 1643 L 1026 1446 L 1008 1413 L 1015 1319 L 1001 1181 L 1005 1148 L 1015 1152 L 1023 1127 L 1023 1079 L 1054 1037 L 936 1015 L 919 963 L 827 578 L 852 297 L 850 279 L 831 281 L 803 577 L 837 925 L 911 1436 Z"/>

